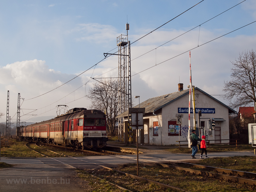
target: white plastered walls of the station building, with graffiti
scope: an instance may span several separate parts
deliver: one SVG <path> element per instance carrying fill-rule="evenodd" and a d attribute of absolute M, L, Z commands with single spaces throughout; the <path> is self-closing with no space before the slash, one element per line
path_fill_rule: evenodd
<path fill-rule="evenodd" d="M 144 117 L 144 130 L 139 134 L 139 143 L 141 143 L 141 137 L 144 137 L 144 143 L 151 145 L 174 145 L 179 144 L 179 136 L 168 136 L 168 121 L 176 121 L 176 114 L 178 114 L 178 108 L 188 108 L 189 94 L 171 102 L 170 104 L 162 108 L 160 115 L 152 115 Z M 205 93 L 195 90 L 195 107 L 196 108 L 215 108 L 215 113 L 202 113 L 200 121 L 205 122 L 206 136 L 208 140 L 215 140 L 215 131 L 208 129 L 208 119 L 202 118 L 223 118 L 226 121 L 216 121 L 215 127 L 220 127 L 220 139 L 221 143 L 229 142 L 229 122 L 228 122 L 228 108 L 222 105 L 220 102 L 212 99 Z M 192 108 L 192 102 L 191 102 Z M 187 141 L 188 137 L 188 113 L 183 114 L 182 125 L 180 126 L 180 141 Z M 193 114 L 190 114 L 190 126 L 193 129 Z M 158 136 L 153 136 L 153 122 L 158 122 Z M 198 123 L 198 115 L 196 113 L 196 121 Z M 146 123 L 146 124 L 145 124 Z M 198 124 L 196 124 L 198 127 Z M 144 135 L 142 134 L 144 133 Z M 227 139 L 227 140 L 224 140 Z M 210 143 L 215 143 L 211 141 Z M 188 144 L 188 142 L 181 142 L 180 144 Z"/>

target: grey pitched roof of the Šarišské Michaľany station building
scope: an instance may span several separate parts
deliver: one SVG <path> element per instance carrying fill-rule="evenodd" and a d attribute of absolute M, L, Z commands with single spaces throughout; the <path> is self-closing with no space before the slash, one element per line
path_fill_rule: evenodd
<path fill-rule="evenodd" d="M 229 113 L 236 113 L 236 111 L 234 109 L 228 107 L 227 105 L 225 105 L 224 103 L 215 99 L 211 95 L 209 95 L 206 92 L 202 91 L 201 89 L 195 87 L 195 90 L 196 89 L 205 93 L 206 95 L 208 95 L 212 99 L 218 101 L 219 103 L 221 103 L 222 105 L 227 107 Z M 186 94 L 189 94 L 189 89 L 186 89 L 186 90 L 183 90 L 183 91 L 180 91 L 180 92 L 177 91 L 177 92 L 169 93 L 169 94 L 166 94 L 166 95 L 161 95 L 161 96 L 158 96 L 158 97 L 153 97 L 153 98 L 150 98 L 150 99 L 140 103 L 140 108 L 145 108 L 145 113 L 153 113 L 154 111 L 168 105 L 169 103 L 179 99 L 180 97 L 183 97 Z M 134 106 L 134 108 L 139 108 L 139 105 Z M 125 111 L 124 113 L 122 113 L 121 115 L 119 115 L 117 117 L 125 117 L 125 116 L 128 116 L 128 111 Z"/>

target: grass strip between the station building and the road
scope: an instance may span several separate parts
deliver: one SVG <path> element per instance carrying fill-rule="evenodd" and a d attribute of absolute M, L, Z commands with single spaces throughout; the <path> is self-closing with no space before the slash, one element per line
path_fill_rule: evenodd
<path fill-rule="evenodd" d="M 211 146 L 211 145 L 210 145 Z M 212 145 L 212 147 L 214 148 L 206 148 L 207 153 L 211 153 L 211 152 L 225 152 L 225 151 L 244 151 L 244 150 L 254 150 L 254 148 L 252 147 L 252 145 L 250 144 L 240 144 L 236 146 L 232 146 L 232 145 Z M 190 148 L 181 148 L 179 149 L 179 146 L 177 146 L 177 148 L 169 148 L 169 149 L 165 149 L 170 153 L 192 153 L 192 151 L 190 150 Z M 198 149 L 197 153 L 201 153 L 201 150 Z"/>

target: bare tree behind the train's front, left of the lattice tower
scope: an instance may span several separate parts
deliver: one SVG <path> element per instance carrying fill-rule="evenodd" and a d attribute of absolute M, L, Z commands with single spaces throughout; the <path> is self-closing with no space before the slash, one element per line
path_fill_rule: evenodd
<path fill-rule="evenodd" d="M 90 108 L 105 110 L 107 128 L 113 136 L 118 113 L 118 81 L 110 78 L 104 79 L 102 83 L 94 83 L 88 97 L 92 101 Z"/>

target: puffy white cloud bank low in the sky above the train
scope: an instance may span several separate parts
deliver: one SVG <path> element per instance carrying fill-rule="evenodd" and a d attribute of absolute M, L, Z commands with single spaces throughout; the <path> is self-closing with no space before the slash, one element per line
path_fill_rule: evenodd
<path fill-rule="evenodd" d="M 24 98 L 22 108 L 39 109 L 34 112 L 40 115 L 45 111 L 55 108 L 57 105 L 69 103 L 69 107 L 87 107 L 88 100 L 77 100 L 84 96 L 84 89 L 76 90 L 81 84 L 81 77 L 61 86 L 68 82 L 76 75 L 63 74 L 60 71 L 49 69 L 45 61 L 42 60 L 27 60 L 8 64 L 0 68 L 0 88 L 3 90 L 1 98 L 7 99 L 7 90 L 10 92 L 10 112 L 15 114 L 17 111 L 17 96 L 20 93 L 21 98 Z M 52 92 L 49 92 L 53 90 Z M 76 91 L 75 91 L 76 90 Z M 46 92 L 49 92 L 45 94 Z M 42 95 L 35 98 L 39 95 Z M 31 98 L 35 98 L 29 100 Z M 58 101 L 59 100 L 59 101 Z M 75 102 L 71 102 L 77 100 Z M 71 103 L 70 103 L 71 102 Z M 0 104 L 1 111 L 6 108 L 6 103 Z M 30 110 L 31 111 L 31 110 Z M 22 111 L 26 114 L 28 111 Z M 56 110 L 49 111 L 47 115 L 54 115 Z M 22 115 L 21 114 L 21 115 Z M 27 118 L 23 116 L 22 118 Z"/>

